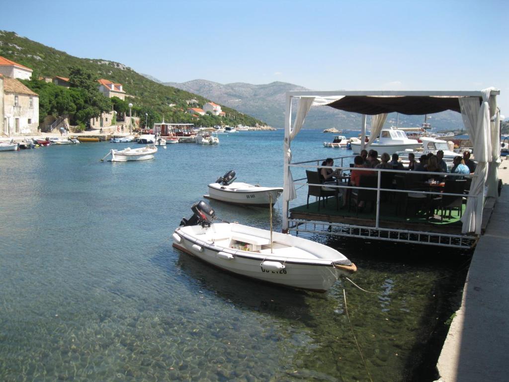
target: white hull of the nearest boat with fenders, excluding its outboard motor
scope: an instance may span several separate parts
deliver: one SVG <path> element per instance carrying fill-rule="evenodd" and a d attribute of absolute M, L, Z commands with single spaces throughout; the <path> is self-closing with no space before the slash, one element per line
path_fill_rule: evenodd
<path fill-rule="evenodd" d="M 259 245 L 261 249 L 257 252 L 245 251 L 230 248 L 230 245 L 235 246 L 236 244 L 232 243 L 239 242 L 235 239 L 237 235 L 240 235 L 242 241 L 249 242 L 248 235 L 239 232 L 221 232 L 221 229 L 215 229 L 215 226 L 221 225 L 225 225 L 225 223 L 212 224 L 211 227 L 206 228 L 201 226 L 177 228 L 173 235 L 173 246 L 214 267 L 242 277 L 317 292 L 327 291 L 340 274 L 344 272 L 344 269 L 334 265 L 334 260 L 303 259 L 298 257 L 298 254 L 305 253 L 302 248 L 306 247 L 314 248 L 318 252 L 321 250 L 328 253 L 334 251 L 323 244 L 274 232 L 273 245 L 280 245 L 278 243 L 281 242 L 287 242 L 292 245 L 285 248 L 287 256 L 280 256 L 277 254 L 277 250 L 274 250 L 274 254 L 270 253 L 270 231 L 239 224 L 226 224 L 236 228 L 247 227 L 248 229 L 260 232 L 260 236 L 252 241 L 261 244 Z M 209 233 L 210 231 L 213 232 L 211 235 L 204 235 L 199 232 L 200 230 L 209 231 Z M 196 234 L 193 234 L 193 231 Z M 334 252 L 338 257 L 336 260 L 344 263 L 343 267 L 351 267 L 352 271 L 356 269 L 355 265 L 343 255 L 337 251 Z M 296 257 L 292 258 L 294 254 Z M 340 260 L 340 258 L 343 260 Z M 274 264 L 279 264 L 279 266 L 274 268 Z"/>

